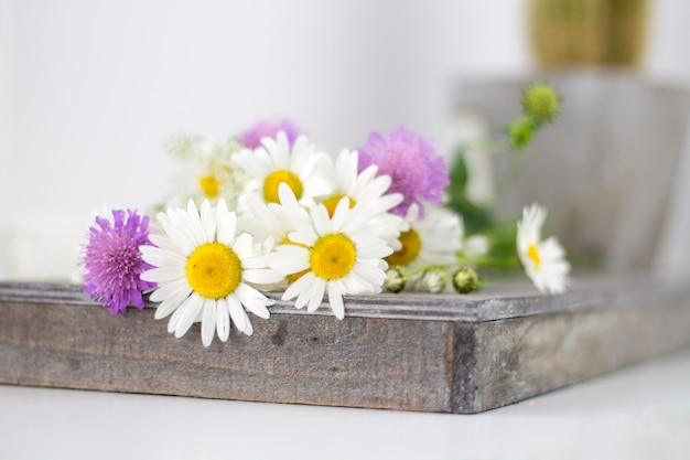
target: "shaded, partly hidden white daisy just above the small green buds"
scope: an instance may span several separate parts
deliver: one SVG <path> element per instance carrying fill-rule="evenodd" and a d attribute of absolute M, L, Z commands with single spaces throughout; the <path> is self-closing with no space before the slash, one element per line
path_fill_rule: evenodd
<path fill-rule="evenodd" d="M 463 223 L 446 208 L 429 206 L 419 220 L 417 204 L 410 206 L 406 221 L 410 229 L 400 234 L 402 248 L 386 257 L 390 265 L 417 268 L 427 265 L 451 266 L 462 247 Z"/>

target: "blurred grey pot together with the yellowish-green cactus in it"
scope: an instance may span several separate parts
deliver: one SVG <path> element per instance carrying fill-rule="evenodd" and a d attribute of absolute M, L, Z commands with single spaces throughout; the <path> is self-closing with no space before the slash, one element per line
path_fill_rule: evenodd
<path fill-rule="evenodd" d="M 672 277 L 688 268 L 678 254 L 690 252 L 680 236 L 690 227 L 678 215 L 690 207 L 687 195 L 675 194 L 690 179 L 690 94 L 686 84 L 645 72 L 658 8 L 646 0 L 530 0 L 535 67 L 457 88 L 459 113 L 483 114 L 495 137 L 520 111 L 530 82 L 549 82 L 562 95 L 561 117 L 527 152 L 493 159 L 498 182 L 520 163 L 493 205 L 505 218 L 531 201 L 546 205 L 550 232 L 575 270 Z"/>

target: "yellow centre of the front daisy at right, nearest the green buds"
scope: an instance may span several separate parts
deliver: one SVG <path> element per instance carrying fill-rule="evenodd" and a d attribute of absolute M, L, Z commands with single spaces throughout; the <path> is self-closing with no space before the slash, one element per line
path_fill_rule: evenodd
<path fill-rule="evenodd" d="M 356 259 L 357 249 L 352 239 L 334 233 L 316 239 L 309 263 L 315 276 L 333 280 L 349 274 Z"/>

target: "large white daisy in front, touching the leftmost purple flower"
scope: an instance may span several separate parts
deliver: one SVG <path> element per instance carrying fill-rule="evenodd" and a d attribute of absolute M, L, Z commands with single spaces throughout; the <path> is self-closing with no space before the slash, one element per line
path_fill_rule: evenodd
<path fill-rule="evenodd" d="M 230 318 L 237 329 L 251 335 L 254 328 L 245 308 L 269 318 L 267 299 L 251 285 L 276 282 L 279 277 L 252 253 L 251 236 L 238 234 L 237 217 L 225 201 L 212 208 L 204 201 L 201 215 L 190 200 L 186 211 L 169 208 L 159 214 L 163 233 L 151 234 L 155 246 L 141 246 L 142 258 L 153 267 L 141 279 L 155 282 L 150 296 L 160 302 L 155 319 L 172 313 L 168 331 L 184 335 L 194 322 L 202 322 L 202 341 L 209 346 L 217 331 L 227 341 Z"/>

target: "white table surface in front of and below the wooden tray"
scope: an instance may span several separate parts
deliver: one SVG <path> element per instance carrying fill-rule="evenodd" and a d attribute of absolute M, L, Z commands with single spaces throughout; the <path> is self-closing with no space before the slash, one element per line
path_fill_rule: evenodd
<path fill-rule="evenodd" d="M 478 415 L 0 385 L 0 459 L 690 459 L 690 350 Z"/>

